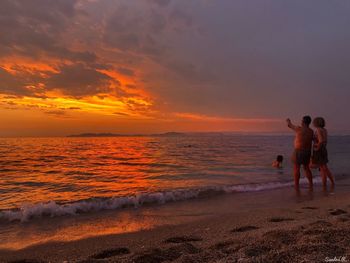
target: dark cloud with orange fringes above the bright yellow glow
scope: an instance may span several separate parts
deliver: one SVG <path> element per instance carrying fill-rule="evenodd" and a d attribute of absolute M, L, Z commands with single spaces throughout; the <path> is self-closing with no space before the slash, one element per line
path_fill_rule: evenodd
<path fill-rule="evenodd" d="M 83 97 L 111 93 L 120 86 L 118 80 L 81 63 L 61 65 L 58 72 L 15 69 L 10 73 L 0 68 L 0 93 L 45 98 L 46 91 L 56 89 L 65 95 Z"/>

